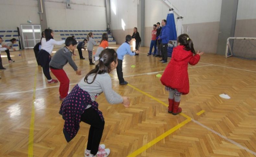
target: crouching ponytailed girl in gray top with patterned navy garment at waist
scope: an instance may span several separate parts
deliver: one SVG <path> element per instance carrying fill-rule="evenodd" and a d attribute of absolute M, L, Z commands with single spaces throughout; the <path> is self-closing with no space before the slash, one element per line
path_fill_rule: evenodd
<path fill-rule="evenodd" d="M 90 125 L 86 157 L 107 157 L 110 149 L 100 144 L 105 121 L 96 102 L 98 95 L 104 93 L 110 104 L 123 104 L 130 106 L 128 97 L 121 96 L 112 89 L 109 73 L 117 67 L 117 53 L 114 49 L 105 49 L 99 55 L 99 63 L 91 70 L 67 95 L 61 104 L 59 113 L 65 120 L 63 133 L 67 142 L 72 140 L 82 121 Z"/>

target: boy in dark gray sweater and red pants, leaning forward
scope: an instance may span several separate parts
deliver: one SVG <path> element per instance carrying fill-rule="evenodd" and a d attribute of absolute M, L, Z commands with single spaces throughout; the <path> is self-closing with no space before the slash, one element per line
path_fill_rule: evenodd
<path fill-rule="evenodd" d="M 72 59 L 72 54 L 76 48 L 76 44 L 76 39 L 68 37 L 65 41 L 65 46 L 54 54 L 50 62 L 50 69 L 52 73 L 60 81 L 59 92 L 61 101 L 63 101 L 67 96 L 69 88 L 69 79 L 63 70 L 64 65 L 68 62 L 76 71 L 76 74 L 81 75 L 81 71 L 77 68 L 76 63 Z"/>

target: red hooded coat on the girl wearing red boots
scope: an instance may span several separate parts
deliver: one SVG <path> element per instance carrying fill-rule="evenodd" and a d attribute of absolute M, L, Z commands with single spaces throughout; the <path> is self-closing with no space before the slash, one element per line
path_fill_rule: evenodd
<path fill-rule="evenodd" d="M 195 65 L 199 62 L 200 55 L 193 56 L 191 51 L 186 51 L 183 46 L 173 49 L 171 62 L 167 65 L 160 81 L 163 85 L 177 89 L 183 95 L 189 93 L 188 63 Z"/>

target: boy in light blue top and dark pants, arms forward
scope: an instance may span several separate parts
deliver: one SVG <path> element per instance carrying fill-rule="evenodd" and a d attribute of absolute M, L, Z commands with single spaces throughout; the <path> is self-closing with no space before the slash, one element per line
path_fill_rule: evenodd
<path fill-rule="evenodd" d="M 123 72 L 122 72 L 122 62 L 124 55 L 129 54 L 130 56 L 134 56 L 136 52 L 131 51 L 130 44 L 132 42 L 132 36 L 127 35 L 125 37 L 125 42 L 117 49 L 117 58 L 118 58 L 118 65 L 116 67 L 116 72 L 119 80 L 120 85 L 128 84 L 128 82 L 124 81 L 123 79 Z"/>

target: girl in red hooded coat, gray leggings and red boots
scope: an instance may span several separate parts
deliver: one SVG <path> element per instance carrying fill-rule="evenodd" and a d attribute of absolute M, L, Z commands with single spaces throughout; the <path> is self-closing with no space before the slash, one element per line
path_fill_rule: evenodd
<path fill-rule="evenodd" d="M 197 64 L 203 53 L 195 52 L 193 42 L 187 34 L 178 37 L 178 46 L 173 49 L 171 61 L 160 79 L 165 89 L 170 92 L 169 113 L 173 115 L 181 113 L 180 95 L 189 93 L 188 63 Z"/>

